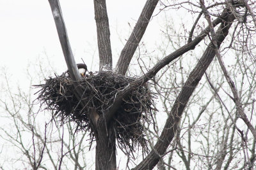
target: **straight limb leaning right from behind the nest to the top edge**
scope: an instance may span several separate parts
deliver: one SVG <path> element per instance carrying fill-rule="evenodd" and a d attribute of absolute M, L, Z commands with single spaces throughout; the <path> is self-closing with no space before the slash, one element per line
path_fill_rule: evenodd
<path fill-rule="evenodd" d="M 125 75 L 128 66 L 131 62 L 132 56 L 134 55 L 134 52 L 136 51 L 136 48 L 138 47 L 141 38 L 143 37 L 147 29 L 147 25 L 150 22 L 150 18 L 152 17 L 152 14 L 156 8 L 158 1 L 159 0 L 147 0 L 147 2 L 145 3 L 145 6 L 141 11 L 140 17 L 138 19 L 138 22 L 136 23 L 131 33 L 131 36 L 129 37 L 127 43 L 125 44 L 121 52 L 121 55 L 118 59 L 118 62 L 115 67 L 117 73 Z"/>

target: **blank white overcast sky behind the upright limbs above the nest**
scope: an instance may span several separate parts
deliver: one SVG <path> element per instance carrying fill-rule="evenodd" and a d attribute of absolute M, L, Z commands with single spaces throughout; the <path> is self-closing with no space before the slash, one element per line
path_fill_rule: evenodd
<path fill-rule="evenodd" d="M 120 38 L 125 43 L 124 38 L 131 33 L 128 23 L 134 26 L 144 3 L 138 0 L 107 1 L 114 62 L 124 46 Z M 93 53 L 97 51 L 93 1 L 60 0 L 60 4 L 76 62 L 81 62 L 81 57 L 85 62 L 91 62 Z M 150 23 L 145 34 L 145 37 L 150 35 L 148 44 L 154 44 L 160 34 L 157 20 L 153 22 L 155 24 Z M 48 1 L 0 0 L 0 67 L 8 67 L 8 73 L 13 78 L 19 72 L 20 78 L 28 62 L 35 62 L 39 56 L 41 60 L 46 60 L 44 52 L 57 70 L 67 69 Z M 97 65 L 97 53 L 94 57 L 93 64 Z M 97 71 L 98 67 L 92 69 Z"/>

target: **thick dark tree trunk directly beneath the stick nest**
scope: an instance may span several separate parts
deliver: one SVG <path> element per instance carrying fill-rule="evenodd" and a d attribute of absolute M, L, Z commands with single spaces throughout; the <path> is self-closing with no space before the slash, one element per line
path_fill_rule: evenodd
<path fill-rule="evenodd" d="M 104 125 L 103 125 L 104 126 Z M 116 145 L 115 134 L 106 133 L 105 126 L 98 130 L 96 139 L 96 170 L 115 170 L 116 169 Z"/>

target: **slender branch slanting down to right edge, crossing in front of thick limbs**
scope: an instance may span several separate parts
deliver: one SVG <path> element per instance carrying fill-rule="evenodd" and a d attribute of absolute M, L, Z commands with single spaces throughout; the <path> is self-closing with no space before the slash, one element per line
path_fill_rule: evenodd
<path fill-rule="evenodd" d="M 247 118 L 246 114 L 244 113 L 244 109 L 243 109 L 243 106 L 241 103 L 241 98 L 238 96 L 236 85 L 234 84 L 234 81 L 232 81 L 232 79 L 230 78 L 228 71 L 224 65 L 224 62 L 221 58 L 220 51 L 218 50 L 218 44 L 217 44 L 218 40 L 216 39 L 217 34 L 214 31 L 214 28 L 213 28 L 213 25 L 211 22 L 211 16 L 209 15 L 209 12 L 205 8 L 205 4 L 204 4 L 203 0 L 200 0 L 200 4 L 202 6 L 202 10 L 204 11 L 205 18 L 206 18 L 208 24 L 210 25 L 210 32 L 211 32 L 211 37 L 212 37 L 211 41 L 212 41 L 212 44 L 214 45 L 213 47 L 216 52 L 216 56 L 220 63 L 223 74 L 228 82 L 230 89 L 232 90 L 232 94 L 234 96 L 233 99 L 234 99 L 234 103 L 236 104 L 237 111 L 238 111 L 239 115 L 241 116 L 242 120 L 244 121 L 244 123 L 247 125 L 247 127 L 252 132 L 253 138 L 256 139 L 256 131 L 255 131 L 253 125 L 251 124 L 250 120 Z"/>

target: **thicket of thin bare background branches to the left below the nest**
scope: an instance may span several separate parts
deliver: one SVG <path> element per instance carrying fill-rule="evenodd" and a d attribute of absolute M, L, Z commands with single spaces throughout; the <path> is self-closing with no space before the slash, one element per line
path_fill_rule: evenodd
<path fill-rule="evenodd" d="M 42 67 L 45 66 L 39 68 Z M 1 79 L 5 80 L 2 82 L 5 85 L 1 88 L 1 96 L 6 97 L 1 97 L 0 109 L 6 123 L 0 127 L 0 137 L 1 142 L 5 143 L 2 149 L 8 152 L 1 154 L 1 169 L 89 168 L 92 164 L 84 159 L 89 148 L 83 142 L 86 133 L 77 136 L 76 126 L 72 122 L 56 127 L 57 122 L 54 123 L 51 117 L 45 117 L 44 112 L 38 110 L 33 95 L 35 88 L 31 87 L 33 82 L 43 82 L 41 79 L 44 74 L 42 70 L 36 71 L 36 78 L 28 71 L 28 90 L 22 90 L 19 86 L 13 89 L 8 78 L 10 76 L 5 71 L 1 74 Z M 45 113 L 49 115 L 49 111 Z M 51 113 L 54 114 L 53 111 Z"/>

